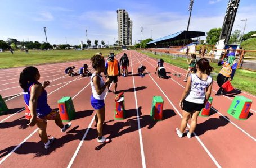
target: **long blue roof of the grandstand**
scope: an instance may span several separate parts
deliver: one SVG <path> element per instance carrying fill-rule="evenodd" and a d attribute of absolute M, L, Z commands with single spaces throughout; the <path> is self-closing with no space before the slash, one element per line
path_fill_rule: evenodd
<path fill-rule="evenodd" d="M 179 32 L 176 32 L 174 34 L 165 36 L 165 37 L 160 38 L 160 39 L 150 41 L 147 44 L 161 43 L 161 42 L 170 41 L 170 40 L 172 40 L 172 41 L 174 41 L 174 40 L 184 40 L 185 39 L 185 34 L 186 34 L 186 39 L 205 36 L 205 32 L 202 32 L 202 31 L 185 31 L 184 30 L 184 31 L 179 31 Z"/>

